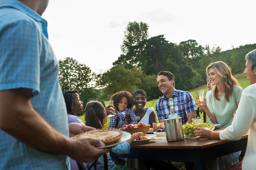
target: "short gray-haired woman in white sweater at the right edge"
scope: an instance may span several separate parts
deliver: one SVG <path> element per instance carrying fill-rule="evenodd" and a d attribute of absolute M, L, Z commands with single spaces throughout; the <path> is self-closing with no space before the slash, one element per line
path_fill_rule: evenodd
<path fill-rule="evenodd" d="M 256 167 L 256 49 L 245 56 L 244 74 L 250 85 L 244 89 L 236 115 L 230 126 L 222 131 L 194 127 L 199 138 L 239 140 L 248 130 L 248 142 L 242 169 L 252 170 Z M 241 162 L 240 162 L 241 163 Z"/>

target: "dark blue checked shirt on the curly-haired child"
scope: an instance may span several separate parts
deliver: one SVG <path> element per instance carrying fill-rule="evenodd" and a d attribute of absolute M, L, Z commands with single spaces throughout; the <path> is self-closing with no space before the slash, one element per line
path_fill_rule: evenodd
<path fill-rule="evenodd" d="M 125 114 L 123 115 L 119 111 L 115 110 L 115 116 L 110 117 L 110 122 L 108 128 L 114 128 L 119 129 L 124 126 L 124 124 L 138 124 L 138 118 L 135 116 L 135 113 L 132 111 L 132 109 L 126 108 L 124 110 Z M 131 122 L 128 123 L 126 121 L 126 117 L 130 116 Z M 118 124 L 117 124 L 117 117 L 120 118 Z M 117 124 L 117 125 L 116 125 Z"/>

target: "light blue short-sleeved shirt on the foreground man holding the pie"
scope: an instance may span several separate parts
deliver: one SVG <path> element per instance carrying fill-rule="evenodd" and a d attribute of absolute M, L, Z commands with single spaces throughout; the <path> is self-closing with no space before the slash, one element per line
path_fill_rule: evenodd
<path fill-rule="evenodd" d="M 32 89 L 32 107 L 54 129 L 69 135 L 47 22 L 18 0 L 0 0 L 0 91 L 17 88 Z M 0 170 L 65 170 L 68 160 L 35 150 L 0 130 Z"/>

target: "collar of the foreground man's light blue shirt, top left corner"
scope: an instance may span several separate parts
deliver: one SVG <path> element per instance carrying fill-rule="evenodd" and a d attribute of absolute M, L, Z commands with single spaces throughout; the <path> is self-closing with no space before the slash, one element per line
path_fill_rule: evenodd
<path fill-rule="evenodd" d="M 25 13 L 29 17 L 33 18 L 36 22 L 39 22 L 41 27 L 42 27 L 43 34 L 48 39 L 47 21 L 45 19 L 43 19 L 34 10 L 27 7 L 25 4 L 23 4 L 22 2 L 20 2 L 18 0 L 0 0 L 0 8 L 3 8 L 3 7 L 9 7 L 9 8 L 17 9 L 17 10 L 21 11 L 22 13 Z"/>

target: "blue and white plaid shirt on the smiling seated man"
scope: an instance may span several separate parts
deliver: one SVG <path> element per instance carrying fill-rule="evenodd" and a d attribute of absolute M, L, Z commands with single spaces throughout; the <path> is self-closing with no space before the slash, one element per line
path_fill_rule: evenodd
<path fill-rule="evenodd" d="M 189 92 L 174 89 L 173 101 L 176 114 L 179 117 L 182 117 L 182 124 L 185 124 L 186 121 L 188 121 L 186 113 L 197 110 L 195 100 Z M 170 115 L 170 106 L 168 98 L 166 98 L 165 95 L 157 100 L 155 109 L 157 111 L 158 120 L 168 118 Z"/>

